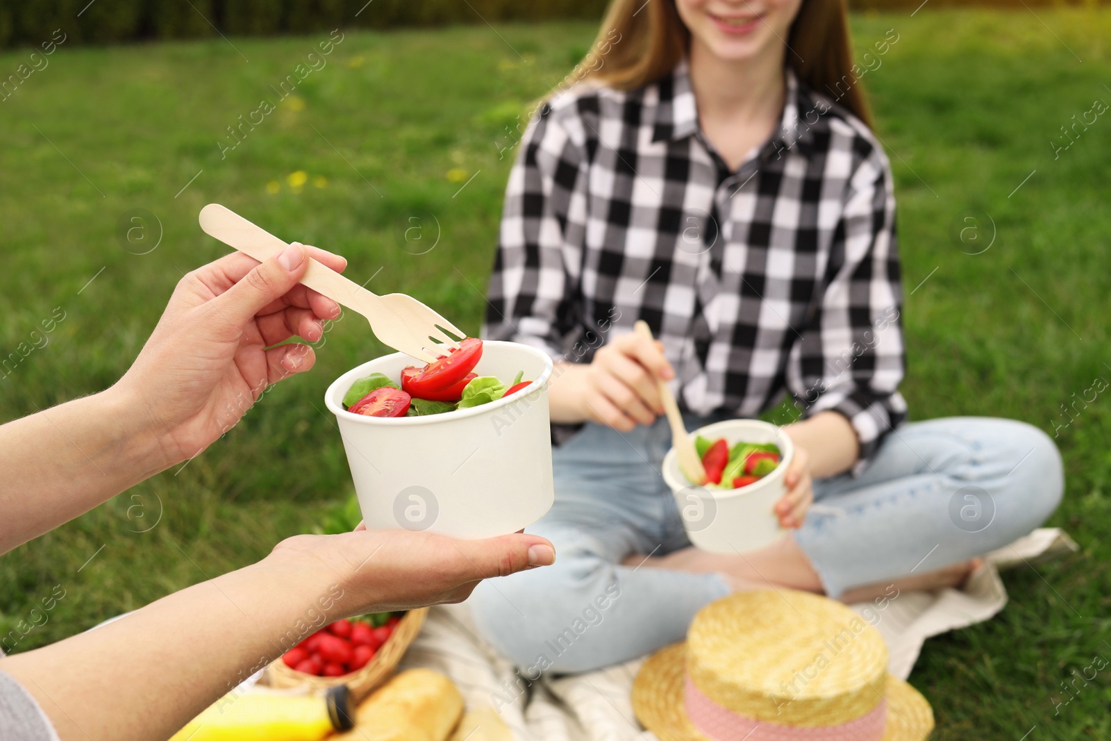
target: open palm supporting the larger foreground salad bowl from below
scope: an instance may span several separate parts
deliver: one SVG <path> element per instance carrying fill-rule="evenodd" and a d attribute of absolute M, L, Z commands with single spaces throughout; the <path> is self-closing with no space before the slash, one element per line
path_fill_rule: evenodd
<path fill-rule="evenodd" d="M 366 530 L 337 535 L 294 535 L 268 560 L 312 561 L 324 568 L 321 583 L 343 588 L 346 615 L 462 602 L 483 579 L 550 565 L 556 550 L 540 535 L 513 533 L 488 540 L 456 540 L 431 532 Z M 341 615 L 330 615 L 334 620 Z"/>

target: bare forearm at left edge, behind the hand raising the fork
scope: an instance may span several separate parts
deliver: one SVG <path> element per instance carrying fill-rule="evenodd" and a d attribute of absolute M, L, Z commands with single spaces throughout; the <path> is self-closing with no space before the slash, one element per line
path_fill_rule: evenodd
<path fill-rule="evenodd" d="M 143 424 L 109 389 L 0 427 L 0 553 L 172 464 Z"/>

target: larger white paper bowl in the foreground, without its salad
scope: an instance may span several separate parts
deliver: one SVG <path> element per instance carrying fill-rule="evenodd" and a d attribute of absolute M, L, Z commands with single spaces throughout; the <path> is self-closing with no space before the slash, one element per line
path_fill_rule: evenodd
<path fill-rule="evenodd" d="M 498 401 L 428 417 L 379 418 L 343 409 L 351 384 L 373 372 L 401 378 L 403 353 L 377 358 L 328 387 L 368 529 L 428 530 L 478 539 L 517 532 L 552 505 L 548 381 L 552 361 L 514 342 L 482 343 L 474 372 L 532 384 Z"/>

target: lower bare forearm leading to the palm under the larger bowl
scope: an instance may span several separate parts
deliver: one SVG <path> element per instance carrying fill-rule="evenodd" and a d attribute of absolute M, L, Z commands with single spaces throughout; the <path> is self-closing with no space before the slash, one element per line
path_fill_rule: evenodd
<path fill-rule="evenodd" d="M 62 741 L 166 739 L 346 614 L 341 581 L 311 559 L 270 557 L 102 628 L 4 658 L 0 670 L 34 695 Z"/>

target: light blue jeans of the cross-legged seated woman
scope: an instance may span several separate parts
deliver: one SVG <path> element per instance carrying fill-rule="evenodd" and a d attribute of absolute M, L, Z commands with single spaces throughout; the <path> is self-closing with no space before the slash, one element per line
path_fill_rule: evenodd
<path fill-rule="evenodd" d="M 688 429 L 707 423 L 688 419 Z M 553 451 L 556 503 L 528 529 L 556 545 L 551 567 L 492 579 L 470 599 L 479 630 L 534 679 L 587 671 L 683 640 L 698 610 L 731 590 L 712 573 L 621 565 L 690 541 L 660 475 L 667 422 L 622 434 L 587 424 Z M 950 418 L 889 434 L 858 477 L 814 482 L 793 537 L 825 593 L 923 573 L 1001 548 L 1053 512 L 1061 457 L 1022 422 Z"/>

